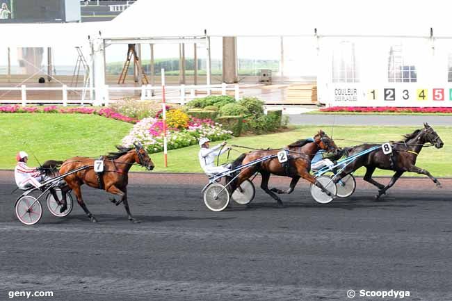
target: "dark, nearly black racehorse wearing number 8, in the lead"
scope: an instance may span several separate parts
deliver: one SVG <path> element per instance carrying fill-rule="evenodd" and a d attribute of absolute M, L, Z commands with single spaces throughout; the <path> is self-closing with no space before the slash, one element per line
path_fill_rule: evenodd
<path fill-rule="evenodd" d="M 415 165 L 417 156 L 426 143 L 435 145 L 437 149 L 440 149 L 444 145 L 433 127 L 430 127 L 427 123 L 424 123 L 423 129 L 417 129 L 413 133 L 406 134 L 403 137 L 405 139 L 397 142 L 392 142 L 392 158 L 391 155 L 385 155 L 382 149 L 378 149 L 375 152 L 360 156 L 355 161 L 350 163 L 344 169 L 344 171 L 339 174 L 339 177 L 334 179 L 334 181 L 337 182 L 339 181 L 339 179 L 345 177 L 346 174 L 350 174 L 351 172 L 354 172 L 358 168 L 364 166 L 366 168 L 364 181 L 367 181 L 378 188 L 378 195 L 376 195 L 376 200 L 378 200 L 381 195 L 384 195 L 386 193 L 386 190 L 391 188 L 404 172 L 417 172 L 418 174 L 426 174 L 426 176 L 428 176 L 436 184 L 437 187 L 441 187 L 439 181 L 435 177 L 433 177 L 430 172 L 418 168 Z M 357 145 L 355 147 L 347 148 L 346 156 L 357 154 L 375 146 L 378 145 L 366 143 L 363 145 Z M 396 172 L 387 186 L 384 186 L 372 179 L 372 174 L 376 170 L 376 168 L 380 168 L 382 170 L 394 170 Z"/>

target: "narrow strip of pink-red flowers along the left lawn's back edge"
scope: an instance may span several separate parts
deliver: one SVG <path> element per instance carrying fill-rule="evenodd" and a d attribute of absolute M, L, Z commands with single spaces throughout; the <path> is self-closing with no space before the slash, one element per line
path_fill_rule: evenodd
<path fill-rule="evenodd" d="M 61 108 L 58 106 L 0 106 L 0 113 L 63 113 L 63 114 L 95 114 L 123 122 L 136 123 L 138 120 L 124 116 L 111 108 Z"/>

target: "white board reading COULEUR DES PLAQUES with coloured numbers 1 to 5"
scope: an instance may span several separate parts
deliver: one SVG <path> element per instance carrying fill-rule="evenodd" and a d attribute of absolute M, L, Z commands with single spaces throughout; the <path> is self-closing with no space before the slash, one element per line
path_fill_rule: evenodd
<path fill-rule="evenodd" d="M 329 106 L 452 106 L 452 83 L 389 83 L 373 86 L 364 83 L 333 84 Z"/>

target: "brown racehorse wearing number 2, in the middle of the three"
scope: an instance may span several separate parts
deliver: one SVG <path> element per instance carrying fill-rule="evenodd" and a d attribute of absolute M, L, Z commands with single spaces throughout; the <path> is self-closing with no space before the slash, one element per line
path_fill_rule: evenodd
<path fill-rule="evenodd" d="M 312 174 L 309 173 L 309 171 L 311 170 L 311 160 L 319 149 L 325 149 L 328 152 L 338 151 L 334 141 L 328 137 L 325 132 L 318 131 L 316 136 L 314 136 L 314 142 L 310 140 L 298 140 L 296 143 L 288 145 L 286 149 L 289 151 L 289 161 L 285 167 L 278 161 L 277 158 L 271 158 L 261 163 L 251 165 L 248 168 L 243 168 L 234 181 L 229 184 L 231 193 L 233 193 L 243 181 L 252 177 L 252 175 L 256 172 L 259 172 L 262 177 L 261 188 L 277 201 L 278 206 L 283 206 L 283 204 L 280 197 L 278 197 L 275 193 L 292 193 L 300 178 L 306 179 L 318 188 L 321 188 L 321 190 L 323 190 L 323 192 L 327 195 L 332 196 L 331 193 L 326 190 L 323 185 L 312 176 Z M 248 154 L 241 154 L 234 162 L 232 162 L 231 169 L 233 170 L 239 165 L 250 163 L 259 158 L 263 158 L 264 156 L 276 155 L 277 152 L 280 152 L 280 149 L 255 150 L 253 152 L 248 152 Z M 271 174 L 292 178 L 289 189 L 269 189 L 268 180 L 270 179 Z"/>

